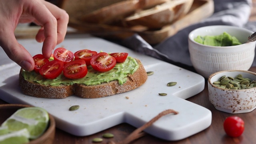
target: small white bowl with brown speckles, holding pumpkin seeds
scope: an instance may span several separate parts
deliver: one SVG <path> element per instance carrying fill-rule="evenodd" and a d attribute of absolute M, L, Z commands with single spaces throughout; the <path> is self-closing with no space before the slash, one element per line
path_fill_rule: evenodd
<path fill-rule="evenodd" d="M 208 78 L 210 102 L 217 110 L 232 114 L 251 112 L 256 108 L 256 88 L 244 90 L 228 90 L 215 86 L 213 82 L 222 76 L 236 77 L 242 74 L 243 78 L 256 80 L 256 73 L 244 70 L 228 70 L 211 74 Z"/>

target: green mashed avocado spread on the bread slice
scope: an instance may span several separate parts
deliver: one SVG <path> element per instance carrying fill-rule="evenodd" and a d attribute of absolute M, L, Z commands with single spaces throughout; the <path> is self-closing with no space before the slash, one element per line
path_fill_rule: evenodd
<path fill-rule="evenodd" d="M 87 68 L 88 73 L 86 76 L 76 80 L 66 78 L 63 74 L 60 74 L 60 76 L 53 80 L 49 80 L 43 78 L 40 74 L 37 74 L 34 71 L 28 72 L 25 70 L 22 71 L 22 76 L 29 82 L 50 86 L 72 84 L 84 84 L 90 86 L 101 84 L 103 82 L 110 82 L 112 80 L 118 80 L 119 84 L 122 85 L 126 82 L 128 74 L 133 74 L 139 68 L 139 65 L 134 58 L 128 56 L 125 62 L 116 63 L 116 66 L 108 72 L 98 72 L 94 70 L 92 66 L 87 66 Z"/>

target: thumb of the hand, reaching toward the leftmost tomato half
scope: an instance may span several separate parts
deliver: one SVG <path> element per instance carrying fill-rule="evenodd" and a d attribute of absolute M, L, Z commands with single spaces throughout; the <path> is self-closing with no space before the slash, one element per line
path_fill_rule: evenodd
<path fill-rule="evenodd" d="M 6 29 L 5 32 L 0 33 L 0 46 L 11 60 L 24 68 L 24 70 L 32 71 L 34 69 L 32 56 L 18 43 L 14 34 Z"/>

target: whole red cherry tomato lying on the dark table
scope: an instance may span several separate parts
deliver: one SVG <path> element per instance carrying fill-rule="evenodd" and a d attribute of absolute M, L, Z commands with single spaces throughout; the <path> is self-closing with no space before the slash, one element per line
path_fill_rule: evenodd
<path fill-rule="evenodd" d="M 238 116 L 226 118 L 223 126 L 226 134 L 231 137 L 238 137 L 244 132 L 244 121 Z"/>

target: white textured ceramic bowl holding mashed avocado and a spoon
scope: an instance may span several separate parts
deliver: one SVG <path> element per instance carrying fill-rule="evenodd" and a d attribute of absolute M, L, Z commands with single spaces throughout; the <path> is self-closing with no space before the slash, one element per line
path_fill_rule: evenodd
<path fill-rule="evenodd" d="M 188 49 L 190 60 L 198 72 L 205 78 L 223 70 L 248 70 L 254 60 L 256 42 L 237 46 L 207 46 L 194 41 L 197 36 L 216 36 L 227 32 L 245 43 L 253 32 L 235 26 L 205 26 L 190 32 Z"/>

